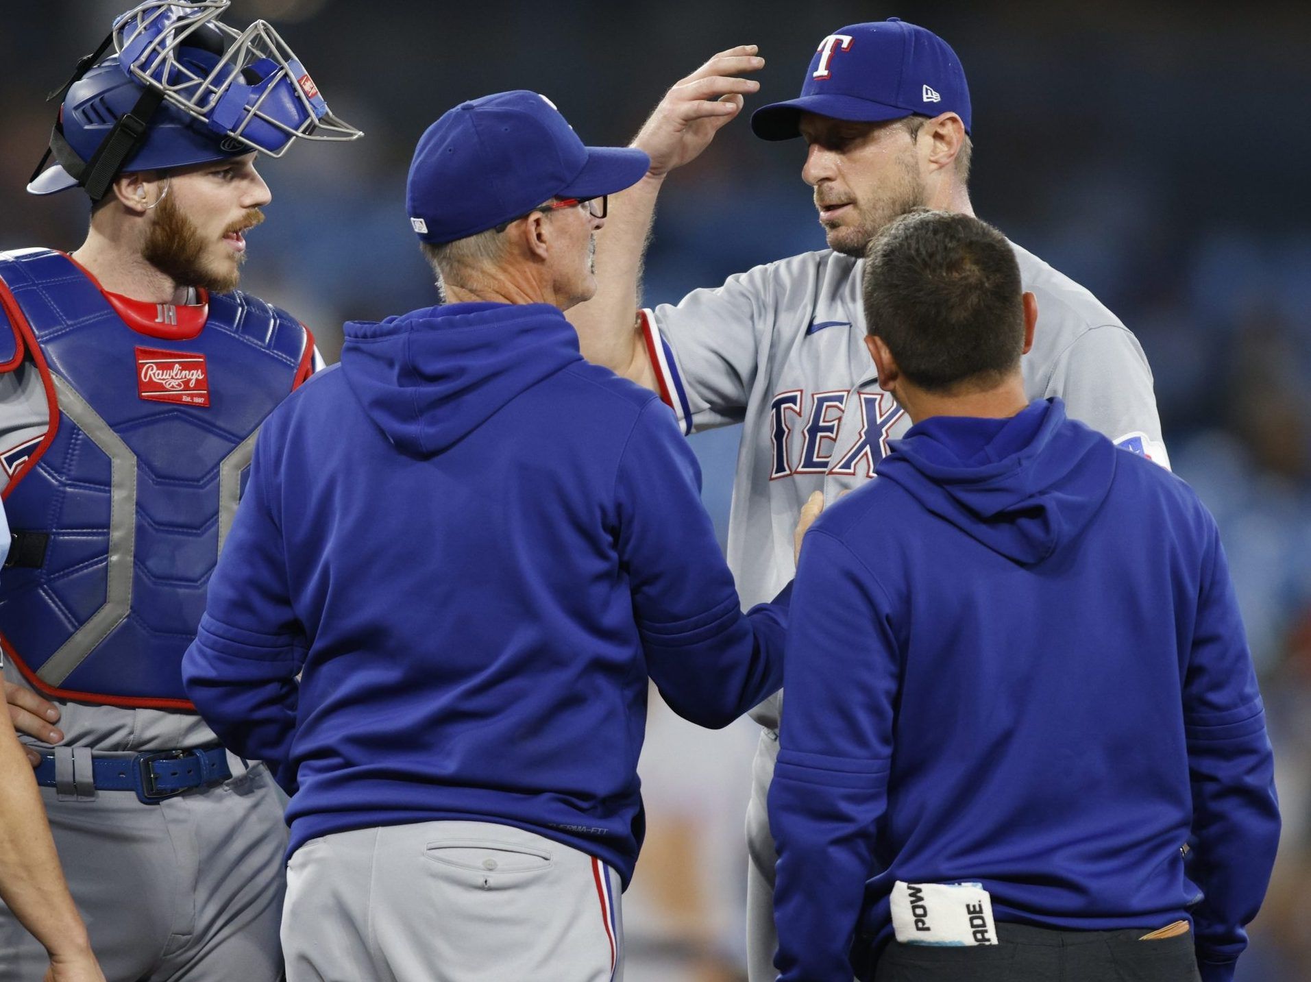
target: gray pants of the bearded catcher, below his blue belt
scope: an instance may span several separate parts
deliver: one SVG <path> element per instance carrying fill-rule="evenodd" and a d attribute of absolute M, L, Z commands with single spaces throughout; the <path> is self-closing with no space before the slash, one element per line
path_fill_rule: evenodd
<path fill-rule="evenodd" d="M 109 982 L 281 977 L 287 829 L 264 764 L 157 805 L 130 791 L 100 791 L 89 801 L 41 793 Z M 0 979 L 38 979 L 47 965 L 45 949 L 0 903 Z"/>

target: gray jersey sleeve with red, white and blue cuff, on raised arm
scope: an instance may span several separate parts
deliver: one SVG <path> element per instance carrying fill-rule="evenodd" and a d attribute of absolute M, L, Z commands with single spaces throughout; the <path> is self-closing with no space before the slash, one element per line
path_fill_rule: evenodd
<path fill-rule="evenodd" d="M 742 422 L 775 307 L 772 266 L 641 312 L 646 353 L 684 434 Z"/>

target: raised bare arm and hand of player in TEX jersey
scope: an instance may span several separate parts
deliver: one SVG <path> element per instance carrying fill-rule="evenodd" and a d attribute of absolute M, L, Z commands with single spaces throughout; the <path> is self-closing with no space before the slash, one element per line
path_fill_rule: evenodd
<path fill-rule="evenodd" d="M 642 257 L 665 176 L 695 160 L 714 134 L 741 111 L 760 84 L 738 77 L 764 67 L 755 45 L 721 51 L 675 83 L 632 146 L 650 156 L 646 176 L 612 195 L 606 227 L 597 233 L 597 295 L 565 316 L 578 329 L 583 358 L 654 389 L 656 370 L 637 325 Z"/>

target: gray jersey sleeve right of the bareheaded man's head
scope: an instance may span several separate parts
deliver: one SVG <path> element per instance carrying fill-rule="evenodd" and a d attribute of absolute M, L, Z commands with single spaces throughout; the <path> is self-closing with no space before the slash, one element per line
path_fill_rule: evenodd
<path fill-rule="evenodd" d="M 1044 396 L 1061 396 L 1071 418 L 1169 469 L 1151 367 L 1126 328 L 1083 332 L 1057 358 Z"/>

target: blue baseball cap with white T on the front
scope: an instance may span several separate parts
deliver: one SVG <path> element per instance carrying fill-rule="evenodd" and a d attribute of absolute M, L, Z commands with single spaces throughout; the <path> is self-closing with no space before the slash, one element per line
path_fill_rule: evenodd
<path fill-rule="evenodd" d="M 961 59 L 931 30 L 889 17 L 852 24 L 819 42 L 800 98 L 751 114 L 766 140 L 800 136 L 801 113 L 876 123 L 907 115 L 956 113 L 970 131 L 970 90 Z"/>

